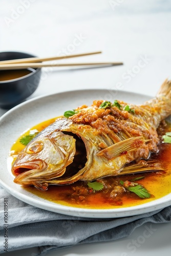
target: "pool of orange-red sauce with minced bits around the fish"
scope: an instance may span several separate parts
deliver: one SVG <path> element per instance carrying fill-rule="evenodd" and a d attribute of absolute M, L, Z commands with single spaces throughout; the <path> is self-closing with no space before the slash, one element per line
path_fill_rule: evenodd
<path fill-rule="evenodd" d="M 38 132 L 42 131 L 55 120 L 56 118 L 53 118 L 35 125 L 16 140 L 9 154 L 9 169 L 17 154 L 25 147 L 20 143 L 20 139 L 29 135 L 30 131 L 35 129 Z M 159 126 L 159 137 L 162 138 L 162 135 L 166 132 L 171 132 L 171 124 L 169 123 Z M 105 177 L 97 180 L 102 185 L 102 188 L 99 190 L 93 189 L 89 186 L 90 183 L 83 181 L 77 181 L 70 185 L 51 185 L 46 191 L 38 190 L 33 186 L 23 188 L 38 197 L 72 207 L 110 209 L 135 206 L 151 202 L 171 193 L 171 144 L 163 143 L 161 140 L 159 143 L 159 153 L 151 154 L 149 160 L 159 161 L 164 170 Z M 135 186 L 143 187 L 149 196 L 140 198 L 137 194 L 127 189 L 126 185 L 131 184 L 130 182 L 135 183 Z"/>

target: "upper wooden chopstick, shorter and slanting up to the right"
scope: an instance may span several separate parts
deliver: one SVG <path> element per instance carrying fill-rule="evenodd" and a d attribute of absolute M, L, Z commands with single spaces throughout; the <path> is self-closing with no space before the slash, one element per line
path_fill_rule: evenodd
<path fill-rule="evenodd" d="M 33 62 L 42 62 L 42 61 L 49 61 L 49 60 L 56 60 L 56 59 L 68 59 L 68 58 L 75 58 L 75 57 L 81 57 L 81 56 L 87 56 L 87 55 L 93 55 L 93 54 L 99 54 L 99 53 L 101 53 L 101 51 L 72 54 L 67 56 L 46 57 L 46 58 L 32 57 L 32 58 L 23 58 L 23 59 L 10 59 L 10 60 L 0 61 L 0 65 L 10 64 L 10 63 L 30 63 L 30 62 L 33 63 Z"/>

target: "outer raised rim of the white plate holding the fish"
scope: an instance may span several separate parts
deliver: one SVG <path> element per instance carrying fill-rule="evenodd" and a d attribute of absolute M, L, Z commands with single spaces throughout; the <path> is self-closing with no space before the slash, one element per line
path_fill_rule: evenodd
<path fill-rule="evenodd" d="M 80 90 L 70 90 L 70 91 L 64 91 L 64 92 L 59 92 L 59 93 L 52 93 L 52 94 L 46 94 L 46 95 L 40 95 L 34 98 L 31 98 L 25 102 L 22 102 L 20 104 L 18 104 L 17 106 L 15 106 L 14 108 L 12 108 L 11 110 L 7 111 L 4 115 L 2 115 L 0 117 L 0 125 L 1 122 L 6 119 L 6 117 L 8 117 L 8 115 L 12 112 L 17 111 L 17 109 L 21 109 L 23 106 L 25 105 L 29 105 L 32 104 L 32 102 L 37 101 L 39 99 L 47 99 L 47 98 L 51 98 L 51 97 L 55 97 L 55 96 L 59 96 L 60 94 L 69 94 L 69 93 L 79 93 L 79 92 L 92 92 L 92 91 L 115 91 L 115 90 L 108 90 L 108 89 L 80 89 Z M 127 92 L 127 91 L 122 91 L 122 90 L 117 90 L 117 92 L 119 94 L 126 94 L 126 95 L 134 95 L 134 96 L 138 96 L 138 97 L 145 97 L 146 100 L 151 99 L 152 97 L 149 95 L 145 95 L 145 94 L 140 94 L 140 93 L 135 93 L 135 92 Z M 10 148 L 9 148 L 10 150 Z M 35 207 L 41 208 L 41 209 L 45 209 L 45 210 L 49 210 L 52 212 L 56 212 L 59 214 L 63 214 L 63 215 L 69 215 L 69 216 L 76 216 L 76 217 L 83 217 L 83 218 L 120 218 L 120 217 L 129 217 L 129 216 L 135 216 L 135 215 L 139 215 L 139 214 L 144 214 L 147 212 L 151 212 L 154 210 L 158 210 L 158 209 L 162 209 L 166 206 L 169 206 L 171 204 L 171 198 L 169 198 L 169 195 L 166 195 L 160 199 L 156 199 L 154 201 L 148 202 L 148 203 L 144 203 L 144 204 L 140 204 L 138 206 L 130 206 L 130 207 L 121 207 L 121 208 L 111 208 L 111 209 L 91 209 L 91 208 L 80 208 L 80 207 L 72 207 L 72 206 L 66 206 L 66 205 L 62 205 L 62 204 L 58 204 L 58 203 L 54 203 L 54 202 L 50 202 L 48 200 L 40 199 L 38 196 L 36 196 L 34 199 L 34 197 L 30 197 L 28 193 L 28 195 L 25 194 L 21 194 L 20 193 L 20 189 L 22 189 L 20 187 L 19 190 L 14 190 L 14 189 L 10 189 L 9 185 L 6 184 L 2 179 L 1 179 L 1 174 L 0 174 L 0 185 L 5 188 L 8 193 L 10 193 L 12 196 L 16 197 L 17 199 L 28 203 L 30 205 L 33 205 Z M 18 185 L 19 186 L 19 185 Z M 32 194 L 31 194 L 32 195 Z M 162 202 L 161 202 L 162 199 Z M 38 201 L 38 202 L 37 202 Z M 159 203 L 158 203 L 159 202 Z M 156 204 L 157 203 L 157 204 Z M 137 209 L 138 207 L 138 209 Z"/>

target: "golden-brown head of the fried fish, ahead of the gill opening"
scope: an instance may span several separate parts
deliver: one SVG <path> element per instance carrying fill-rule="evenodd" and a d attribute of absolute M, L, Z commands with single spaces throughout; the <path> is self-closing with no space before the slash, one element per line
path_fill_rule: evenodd
<path fill-rule="evenodd" d="M 20 152 L 12 166 L 14 182 L 46 190 L 49 179 L 65 173 L 75 155 L 75 139 L 60 131 L 39 133 Z M 45 182 L 44 182 L 45 181 Z"/>

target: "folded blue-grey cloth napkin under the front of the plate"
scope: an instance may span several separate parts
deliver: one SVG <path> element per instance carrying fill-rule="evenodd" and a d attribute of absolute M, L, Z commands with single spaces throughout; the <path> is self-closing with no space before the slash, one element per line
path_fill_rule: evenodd
<path fill-rule="evenodd" d="M 8 251 L 38 246 L 39 255 L 46 254 L 49 250 L 76 244 L 114 241 L 129 236 L 143 223 L 166 223 L 171 220 L 171 206 L 117 219 L 71 217 L 26 204 L 0 186 L 0 253 L 5 252 L 5 198 L 8 199 Z"/>

